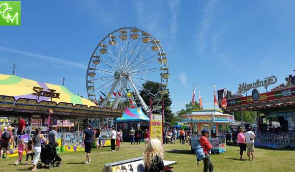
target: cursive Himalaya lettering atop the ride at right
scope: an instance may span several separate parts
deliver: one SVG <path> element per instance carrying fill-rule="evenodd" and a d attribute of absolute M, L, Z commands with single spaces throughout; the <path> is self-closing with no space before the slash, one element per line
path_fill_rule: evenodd
<path fill-rule="evenodd" d="M 247 84 L 247 83 L 239 84 L 237 88 L 237 93 L 243 94 L 252 88 L 257 88 L 260 86 L 264 86 L 265 88 L 267 88 L 269 85 L 275 84 L 276 82 L 277 82 L 277 78 L 274 75 L 272 75 L 270 77 L 265 78 L 264 81 L 260 81 L 259 79 L 257 79 L 256 82 L 253 84 Z"/>

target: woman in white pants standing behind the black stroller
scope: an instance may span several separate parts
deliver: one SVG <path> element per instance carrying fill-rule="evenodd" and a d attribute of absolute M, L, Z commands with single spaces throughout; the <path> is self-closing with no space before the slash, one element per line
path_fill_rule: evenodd
<path fill-rule="evenodd" d="M 35 129 L 35 134 L 32 137 L 33 150 L 34 150 L 34 153 L 35 153 L 35 158 L 34 158 L 34 161 L 33 161 L 32 171 L 38 171 L 37 163 L 39 161 L 39 157 L 40 157 L 40 154 L 41 154 L 41 139 L 43 140 L 43 142 L 45 144 L 47 144 L 47 141 L 44 138 L 43 134 L 40 134 L 39 132 L 40 132 L 39 128 L 36 128 Z"/>

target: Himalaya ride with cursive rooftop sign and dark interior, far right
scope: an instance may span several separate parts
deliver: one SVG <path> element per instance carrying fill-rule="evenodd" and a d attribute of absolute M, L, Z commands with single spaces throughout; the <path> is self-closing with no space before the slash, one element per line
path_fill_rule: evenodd
<path fill-rule="evenodd" d="M 226 113 L 248 111 L 255 119 L 253 131 L 256 134 L 255 145 L 274 148 L 295 147 L 295 76 L 289 75 L 286 84 L 280 84 L 267 91 L 268 86 L 277 82 L 276 76 L 251 84 L 242 83 L 237 94 L 226 94 Z M 260 91 L 266 92 L 260 93 Z M 252 93 L 250 92 L 252 90 Z M 251 95 L 247 95 L 247 91 Z M 218 90 L 221 103 L 224 89 Z M 246 95 L 244 95 L 246 94 Z M 249 93 L 248 93 L 249 94 Z M 274 123 L 278 123 L 274 124 Z"/>

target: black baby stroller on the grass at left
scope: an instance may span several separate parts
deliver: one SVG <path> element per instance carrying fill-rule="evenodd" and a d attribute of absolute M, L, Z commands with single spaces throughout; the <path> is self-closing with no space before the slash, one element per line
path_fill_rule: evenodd
<path fill-rule="evenodd" d="M 55 145 L 52 143 L 47 145 L 42 144 L 40 157 L 41 163 L 37 164 L 38 169 L 42 168 L 42 163 L 45 164 L 45 167 L 48 165 L 48 169 L 52 169 L 54 165 L 56 165 L 56 167 L 61 166 L 61 158 L 57 153 Z"/>

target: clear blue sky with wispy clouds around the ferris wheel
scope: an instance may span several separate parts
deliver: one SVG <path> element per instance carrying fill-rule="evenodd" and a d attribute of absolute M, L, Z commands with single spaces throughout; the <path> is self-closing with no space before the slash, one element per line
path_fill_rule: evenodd
<path fill-rule="evenodd" d="M 276 75 L 278 85 L 295 74 L 293 0 L 22 0 L 21 7 L 22 26 L 0 26 L 0 73 L 16 63 L 16 75 L 58 85 L 65 77 L 84 97 L 94 48 L 122 27 L 161 41 L 173 112 L 191 101 L 193 85 L 208 109 L 212 83 L 236 91 L 243 82 Z"/>

